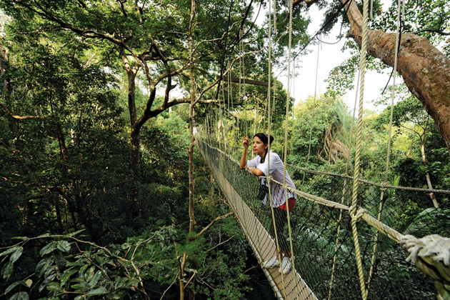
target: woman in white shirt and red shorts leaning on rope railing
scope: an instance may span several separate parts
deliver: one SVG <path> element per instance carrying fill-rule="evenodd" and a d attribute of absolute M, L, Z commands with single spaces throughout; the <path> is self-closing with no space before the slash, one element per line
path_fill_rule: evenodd
<path fill-rule="evenodd" d="M 274 137 L 270 136 L 270 143 L 274 141 Z M 270 151 L 270 168 L 269 168 L 269 157 L 267 157 L 268 149 L 269 149 L 269 139 L 266 134 L 255 134 L 253 137 L 253 146 L 252 151 L 254 154 L 258 154 L 254 159 L 247 161 L 247 151 L 249 149 L 249 137 L 244 136 L 244 153 L 241 157 L 241 169 L 249 169 L 251 174 L 256 176 L 267 176 L 270 171 L 270 175 L 275 181 L 280 183 L 283 182 L 284 177 L 284 164 L 281 161 L 280 156 L 278 154 Z M 286 184 L 295 189 L 294 182 L 286 171 Z M 261 191 L 267 189 L 267 181 L 266 179 L 261 179 Z M 261 195 L 260 191 L 260 195 Z M 276 249 L 276 255 L 274 258 L 269 261 L 264 261 L 263 267 L 266 269 L 274 268 L 275 266 L 280 266 L 280 261 L 278 259 L 278 254 L 281 254 L 281 266 L 280 272 L 283 274 L 288 274 L 291 271 L 292 263 L 291 263 L 291 251 L 289 250 L 289 243 L 286 241 L 284 237 L 283 231 L 284 226 L 287 221 L 287 206 L 286 206 L 286 191 L 284 191 L 283 187 L 279 184 L 271 182 L 271 204 L 274 207 L 274 216 L 276 221 L 276 236 L 278 236 L 280 249 Z M 263 193 L 264 194 L 264 193 Z M 267 194 L 261 196 L 261 200 L 263 204 L 267 204 Z M 292 211 L 296 202 L 296 194 L 287 191 L 288 194 L 288 203 L 289 203 L 289 211 Z M 269 230 L 270 236 L 275 239 L 275 230 L 274 224 L 271 222 L 271 227 Z"/>

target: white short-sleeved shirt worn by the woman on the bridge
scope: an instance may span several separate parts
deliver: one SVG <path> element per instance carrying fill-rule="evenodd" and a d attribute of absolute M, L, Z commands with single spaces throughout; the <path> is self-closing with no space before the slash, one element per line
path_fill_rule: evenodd
<path fill-rule="evenodd" d="M 269 163 L 269 153 L 266 155 L 266 160 L 264 163 L 261 164 L 261 156 L 256 156 L 254 159 L 251 159 L 247 161 L 247 166 L 251 168 L 257 168 L 260 169 L 264 176 L 267 176 L 267 170 Z M 284 177 L 284 164 L 283 161 L 281 161 L 280 156 L 278 154 L 270 151 L 270 175 L 274 180 L 283 183 L 283 177 Z M 266 186 L 267 181 L 266 179 L 261 179 L 261 184 L 265 184 Z M 294 181 L 292 181 L 291 176 L 289 176 L 289 173 L 286 171 L 286 184 L 291 186 L 293 189 L 295 189 Z M 279 207 L 283 205 L 286 202 L 286 195 L 284 194 L 285 191 L 283 189 L 283 186 L 276 184 L 274 182 L 271 182 L 271 195 L 272 195 L 272 205 L 274 207 Z M 263 200 L 263 204 L 267 203 L 267 195 Z M 297 199 L 297 195 L 292 193 L 291 191 L 288 191 L 288 198 L 295 198 Z"/>

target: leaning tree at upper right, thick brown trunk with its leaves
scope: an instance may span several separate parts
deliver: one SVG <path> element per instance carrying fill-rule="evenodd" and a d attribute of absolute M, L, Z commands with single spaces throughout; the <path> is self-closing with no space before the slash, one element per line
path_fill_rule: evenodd
<path fill-rule="evenodd" d="M 300 4 L 303 0 L 295 2 Z M 304 1 L 306 6 L 314 3 L 321 4 L 321 2 L 319 0 Z M 416 31 L 416 34 L 410 32 L 401 34 L 396 71 L 399 71 L 409 91 L 421 101 L 428 114 L 434 119 L 434 124 L 450 151 L 450 122 L 448 121 L 450 119 L 450 59 L 424 36 L 431 31 L 434 34 L 448 35 L 443 29 L 449 24 L 450 11 L 445 4 L 446 1 L 437 1 L 433 4 L 425 2 L 408 2 L 410 6 L 416 6 L 410 9 L 421 11 L 421 16 L 416 21 L 423 24 L 425 19 L 426 28 Z M 356 1 L 341 0 L 341 3 L 346 4 L 344 7 L 349 19 L 350 29 L 347 36 L 361 45 L 363 27 L 361 11 Z M 430 9 L 431 5 L 433 9 Z M 424 6 L 424 9 L 421 9 L 421 6 Z M 436 10 L 434 10 L 435 6 Z M 436 14 L 436 11 L 439 14 Z M 394 21 L 390 23 L 395 24 Z M 384 30 L 388 29 L 391 28 L 384 23 Z M 411 29 L 411 26 L 407 29 Z M 395 41 L 396 33 L 369 30 L 367 53 L 381 59 L 388 66 L 394 66 Z"/>

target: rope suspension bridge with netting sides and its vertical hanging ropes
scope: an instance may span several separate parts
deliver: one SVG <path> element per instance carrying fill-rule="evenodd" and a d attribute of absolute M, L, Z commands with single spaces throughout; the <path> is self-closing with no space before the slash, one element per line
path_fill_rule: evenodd
<path fill-rule="evenodd" d="M 261 266 L 266 266 L 264 262 L 271 260 L 274 256 L 278 256 L 281 261 L 279 253 L 283 247 L 280 247 L 280 244 L 283 243 L 284 236 L 289 236 L 285 240 L 289 241 L 292 268 L 284 271 L 279 264 L 263 268 L 278 299 L 436 299 L 436 290 L 439 300 L 450 299 L 450 239 L 441 237 L 449 235 L 447 226 L 442 226 L 442 224 L 450 225 L 450 219 L 446 218 L 447 214 L 442 214 L 442 211 L 431 207 L 422 211 L 413 221 L 406 222 L 398 213 L 403 209 L 399 199 L 429 199 L 431 195 L 436 199 L 436 196 L 448 197 L 450 191 L 389 184 L 387 171 L 389 169 L 392 113 L 385 180 L 380 184 L 361 179 L 359 155 L 363 119 L 368 5 L 369 1 L 364 1 L 363 42 L 358 76 L 361 86 L 359 87 L 360 101 L 356 128 L 354 176 L 347 174 L 348 165 L 345 174 L 332 174 L 299 168 L 286 163 L 289 96 L 286 99 L 286 123 L 284 126 L 285 170 L 283 182 L 274 180 L 270 175 L 256 177 L 249 171 L 239 169 L 239 162 L 234 159 L 238 152 L 226 144 L 224 121 L 222 117 L 217 117 L 217 113 L 216 120 L 212 120 L 214 118 L 206 119 L 206 126 L 196 134 L 196 146 L 219 184 L 231 210 L 234 211 L 234 215 Z M 271 1 L 269 1 L 268 7 L 269 16 L 271 16 Z M 400 7 L 399 3 L 399 10 Z M 289 1 L 289 12 L 291 11 L 292 1 Z M 271 17 L 274 21 L 274 28 L 276 27 L 275 16 L 276 14 Z M 271 57 L 271 18 L 269 17 L 269 57 Z M 288 61 L 292 61 L 291 13 L 289 18 Z M 399 20 L 397 27 L 399 27 Z M 399 34 L 397 34 L 397 39 L 399 39 Z M 398 44 L 397 40 L 397 47 Z M 398 52 L 397 48 L 396 53 Z M 239 55 L 244 56 L 241 45 Z M 243 61 L 244 59 L 240 57 L 239 79 L 231 80 L 229 71 L 224 76 L 220 76 L 224 81 L 228 79 L 228 101 L 224 96 L 224 84 L 221 85 L 223 103 L 228 102 L 228 110 L 230 110 L 231 82 L 239 83 L 239 94 L 241 94 L 241 83 L 268 86 L 266 116 L 267 135 L 270 136 L 271 111 L 274 109 L 274 104 L 271 104 L 272 99 L 274 101 L 271 89 L 272 86 L 273 89 L 276 86 L 276 84 L 271 84 L 271 59 L 269 59 L 269 82 L 267 83 L 241 78 L 244 76 Z M 395 66 L 396 62 L 394 69 Z M 290 95 L 291 64 L 288 65 L 288 76 L 287 94 Z M 245 87 L 244 95 L 246 96 Z M 314 101 L 315 98 L 314 96 Z M 393 103 L 394 93 L 391 106 Z M 231 109 L 233 109 L 232 106 L 231 99 Z M 234 133 L 244 131 L 244 134 L 249 134 L 246 121 L 244 120 L 243 126 L 242 122 L 239 124 L 237 115 L 233 117 L 233 124 L 237 123 L 238 127 Z M 244 119 L 246 119 L 246 115 Z M 256 118 L 254 121 L 256 133 Z M 242 127 L 245 128 L 242 129 Z M 234 138 L 238 140 L 237 136 Z M 309 148 L 311 149 L 311 145 Z M 270 168 L 270 155 L 268 159 Z M 298 189 L 286 184 L 286 171 L 291 174 Z M 284 228 L 284 221 L 277 219 L 274 214 L 271 201 L 268 201 L 269 204 L 266 204 L 265 200 L 262 201 L 264 197 L 261 197 L 260 194 L 261 179 L 265 179 L 269 185 L 267 195 L 269 199 L 272 199 L 274 192 L 278 193 L 283 190 L 297 195 L 294 208 L 291 211 L 287 209 L 287 228 Z M 287 196 L 284 203 L 288 203 Z M 439 226 L 436 226 L 436 219 L 439 219 Z M 276 229 L 277 226 L 281 229 Z"/>

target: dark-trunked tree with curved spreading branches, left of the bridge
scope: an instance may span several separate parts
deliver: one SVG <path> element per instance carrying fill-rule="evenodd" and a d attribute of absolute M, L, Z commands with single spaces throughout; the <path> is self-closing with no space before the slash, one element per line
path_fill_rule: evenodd
<path fill-rule="evenodd" d="M 142 126 L 169 107 L 190 102 L 189 97 L 184 96 L 169 99 L 169 92 L 177 84 L 186 84 L 186 78 L 189 79 L 191 61 L 186 39 L 189 36 L 189 4 L 189 1 L 168 4 L 166 1 L 103 0 L 0 2 L 2 9 L 16 22 L 16 32 L 39 32 L 44 37 L 49 31 L 59 31 L 61 34 L 69 31 L 74 40 L 96 43 L 97 54 L 92 63 L 125 71 L 131 169 L 136 181 L 139 181 L 141 172 L 139 151 Z M 221 36 L 226 31 L 228 4 L 217 1 L 214 6 L 208 7 L 209 10 L 199 10 L 204 22 L 197 29 L 196 36 L 202 42 L 196 47 L 198 56 L 194 69 L 195 76 L 206 76 L 206 81 L 214 78 L 208 72 L 211 71 L 211 62 L 218 61 L 221 54 Z M 233 15 L 240 16 L 241 9 L 239 2 L 236 3 Z M 141 114 L 136 106 L 136 85 L 141 84 L 139 74 L 144 75 L 144 85 L 148 89 L 148 98 Z M 156 105 L 155 97 L 159 90 L 164 93 L 164 101 Z"/>

